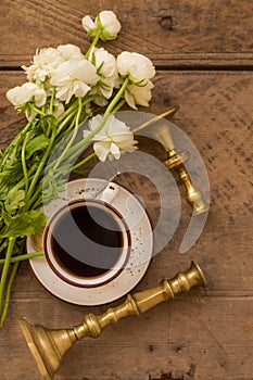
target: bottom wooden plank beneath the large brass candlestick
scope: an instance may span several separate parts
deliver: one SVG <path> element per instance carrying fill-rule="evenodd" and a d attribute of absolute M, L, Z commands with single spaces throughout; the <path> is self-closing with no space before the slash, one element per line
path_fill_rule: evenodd
<path fill-rule="evenodd" d="M 81 319 L 81 308 L 69 305 L 56 313 L 52 302 L 27 300 L 14 306 L 25 311 L 28 302 L 30 321 L 67 327 Z M 76 343 L 55 380 L 250 380 L 252 313 L 251 297 L 181 296 L 140 318 L 122 320 L 98 340 Z M 0 350 L 1 379 L 40 379 L 14 316 L 1 331 Z"/>

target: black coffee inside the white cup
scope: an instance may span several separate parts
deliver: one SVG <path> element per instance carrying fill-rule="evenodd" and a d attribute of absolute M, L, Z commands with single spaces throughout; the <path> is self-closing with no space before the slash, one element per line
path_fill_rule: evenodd
<path fill-rule="evenodd" d="M 117 262 L 123 236 L 105 206 L 80 205 L 66 212 L 56 223 L 52 250 L 69 271 L 84 277 L 106 273 Z"/>

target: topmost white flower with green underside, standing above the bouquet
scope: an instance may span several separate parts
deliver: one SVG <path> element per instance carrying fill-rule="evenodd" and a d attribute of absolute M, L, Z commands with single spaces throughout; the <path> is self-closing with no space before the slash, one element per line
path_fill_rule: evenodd
<path fill-rule="evenodd" d="M 104 41 L 115 39 L 122 28 L 119 21 L 112 11 L 100 12 L 94 22 L 89 15 L 86 15 L 81 23 L 89 36 L 96 36 L 100 30 L 100 38 Z"/>

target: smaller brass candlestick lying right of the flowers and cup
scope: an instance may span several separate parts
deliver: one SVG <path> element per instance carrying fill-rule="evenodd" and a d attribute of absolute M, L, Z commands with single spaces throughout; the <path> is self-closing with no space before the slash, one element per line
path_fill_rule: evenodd
<path fill-rule="evenodd" d="M 186 187 L 186 198 L 188 203 L 192 206 L 192 215 L 203 214 L 208 210 L 208 204 L 204 201 L 201 190 L 193 186 L 190 175 L 184 164 L 189 160 L 190 154 L 186 151 L 176 151 L 170 131 L 166 125 L 161 125 L 154 131 L 154 136 L 168 155 L 167 160 L 164 162 L 165 166 L 169 170 L 176 169 Z"/>

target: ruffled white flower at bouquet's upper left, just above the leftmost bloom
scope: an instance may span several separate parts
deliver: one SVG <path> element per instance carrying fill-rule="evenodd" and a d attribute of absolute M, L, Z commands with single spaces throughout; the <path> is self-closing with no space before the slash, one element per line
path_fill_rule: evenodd
<path fill-rule="evenodd" d="M 36 51 L 36 55 L 31 61 L 33 64 L 28 67 L 22 66 L 22 68 L 26 72 L 28 80 L 40 84 L 50 78 L 63 61 L 64 59 L 58 49 L 40 49 Z"/>

